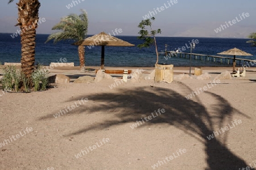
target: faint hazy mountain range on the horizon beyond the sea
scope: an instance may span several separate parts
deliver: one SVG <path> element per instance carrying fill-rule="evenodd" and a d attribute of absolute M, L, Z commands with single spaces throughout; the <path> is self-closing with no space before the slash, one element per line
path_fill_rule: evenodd
<path fill-rule="evenodd" d="M 13 34 L 19 30 L 14 27 L 16 18 L 0 18 L 0 32 Z M 39 34 L 50 34 L 51 30 L 59 20 L 47 19 L 41 23 L 37 29 Z M 251 32 L 256 32 L 256 25 L 234 24 L 230 27 L 224 27 L 225 23 L 165 23 L 162 25 L 153 25 L 155 29 L 160 28 L 164 37 L 228 37 L 228 38 L 247 38 Z M 120 36 L 138 36 L 138 23 L 117 23 L 117 22 L 89 22 L 88 35 L 95 35 L 100 32 L 106 32 L 114 35 L 114 30 L 122 29 Z M 221 27 L 222 25 L 222 27 Z M 10 29 L 13 26 L 13 29 Z M 7 29 L 9 28 L 9 29 Z"/>

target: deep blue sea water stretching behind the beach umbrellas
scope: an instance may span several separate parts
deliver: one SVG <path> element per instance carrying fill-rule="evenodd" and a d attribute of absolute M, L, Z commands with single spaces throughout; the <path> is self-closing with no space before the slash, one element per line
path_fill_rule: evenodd
<path fill-rule="evenodd" d="M 36 55 L 35 61 L 42 65 L 49 65 L 51 62 L 57 62 L 60 58 L 67 58 L 68 62 L 74 62 L 79 66 L 79 56 L 77 46 L 71 45 L 74 41 L 61 41 L 53 44 L 53 41 L 45 44 L 48 35 L 36 35 Z M 136 66 L 136 67 L 154 67 L 156 62 L 155 48 L 137 48 L 142 41 L 136 36 L 117 36 L 119 39 L 135 44 L 133 47 L 121 46 L 106 46 L 105 47 L 105 66 Z M 168 45 L 167 50 L 175 50 L 182 48 L 189 41 L 199 40 L 196 48 L 192 53 L 208 54 L 218 56 L 217 53 L 223 52 L 232 48 L 239 48 L 253 56 L 237 56 L 238 58 L 256 59 L 256 48 L 247 44 L 249 39 L 225 39 L 225 38 L 202 38 L 202 37 L 156 37 L 158 51 L 165 49 L 165 44 Z M 0 33 L 0 62 L 20 62 L 20 36 L 11 37 L 10 33 Z M 190 49 L 184 52 L 190 53 Z M 225 56 L 233 57 L 233 56 Z M 189 66 L 189 59 L 172 57 L 165 59 L 163 55 L 159 56 L 159 63 L 170 63 L 174 66 Z M 86 66 L 101 65 L 101 47 L 96 46 L 92 49 L 85 49 L 85 64 Z M 219 62 L 207 62 L 192 59 L 193 66 L 227 66 Z"/>

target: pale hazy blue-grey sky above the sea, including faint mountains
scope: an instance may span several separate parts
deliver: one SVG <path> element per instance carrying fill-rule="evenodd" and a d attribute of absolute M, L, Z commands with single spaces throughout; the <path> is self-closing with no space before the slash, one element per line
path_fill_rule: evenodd
<path fill-rule="evenodd" d="M 8 0 L 2 1 L 6 3 L 0 6 L 0 32 L 14 33 L 18 29 L 14 27 L 18 0 L 10 4 Z M 39 25 L 38 33 L 52 33 L 51 28 L 61 17 L 80 14 L 80 9 L 88 12 L 89 35 L 102 31 L 112 33 L 121 28 L 119 35 L 138 36 L 137 26 L 149 12 L 156 18 L 153 27 L 162 29 L 162 36 L 246 37 L 250 32 L 256 32 L 254 0 L 44 0 L 40 3 L 39 17 L 45 18 L 46 22 Z M 243 12 L 250 16 L 241 20 Z M 240 22 L 224 27 L 218 33 L 214 31 L 236 18 Z"/>

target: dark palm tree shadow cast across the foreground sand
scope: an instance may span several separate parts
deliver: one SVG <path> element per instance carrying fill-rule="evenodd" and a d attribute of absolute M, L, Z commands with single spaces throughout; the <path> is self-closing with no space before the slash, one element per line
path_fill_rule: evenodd
<path fill-rule="evenodd" d="M 184 94 L 191 93 L 191 89 L 185 84 L 182 84 L 182 92 Z M 241 114 L 237 109 L 231 107 L 229 102 L 223 97 L 211 92 L 204 92 L 211 97 L 212 105 L 210 108 L 204 107 L 199 98 L 194 97 L 193 100 L 187 100 L 184 95 L 181 95 L 173 90 L 159 87 L 137 87 L 133 90 L 119 89 L 117 93 L 104 93 L 89 96 L 90 101 L 94 101 L 95 105 L 88 108 L 82 106 L 82 111 L 72 114 L 93 114 L 102 112 L 103 114 L 114 114 L 118 120 L 105 120 L 97 125 L 75 131 L 71 135 L 85 133 L 89 130 L 105 129 L 113 125 L 122 125 L 127 122 L 134 124 L 141 120 L 142 117 L 149 116 L 158 108 L 164 108 L 165 113 L 153 118 L 147 122 L 150 124 L 169 124 L 183 130 L 185 133 L 196 138 L 204 144 L 205 154 L 207 154 L 207 169 L 239 169 L 247 167 L 246 163 L 238 156 L 234 155 L 226 147 L 226 139 L 228 131 L 208 140 L 207 137 L 217 131 L 219 128 L 224 128 L 233 121 L 234 114 Z M 72 98 L 69 101 L 77 101 Z M 52 114 L 49 114 L 52 118 Z M 44 117 L 44 118 L 49 118 Z M 43 119 L 44 119 L 43 118 Z M 220 138 L 221 137 L 221 138 Z"/>

